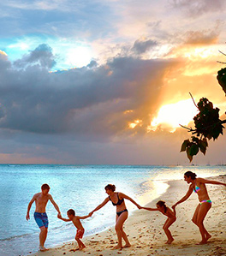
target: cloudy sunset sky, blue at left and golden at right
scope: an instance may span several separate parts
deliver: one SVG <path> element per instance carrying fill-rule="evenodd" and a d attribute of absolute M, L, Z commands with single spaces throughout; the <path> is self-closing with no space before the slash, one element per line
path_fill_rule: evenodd
<path fill-rule="evenodd" d="M 0 8 L 0 164 L 189 164 L 193 99 L 226 119 L 225 0 Z M 224 134 L 193 164 L 226 164 L 225 152 Z"/>

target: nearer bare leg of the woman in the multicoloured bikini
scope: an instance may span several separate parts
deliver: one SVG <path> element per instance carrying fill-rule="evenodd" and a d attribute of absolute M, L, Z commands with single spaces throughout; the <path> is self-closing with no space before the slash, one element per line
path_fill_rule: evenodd
<path fill-rule="evenodd" d="M 202 236 L 202 241 L 200 241 L 199 244 L 205 244 L 206 241 L 211 237 L 211 235 L 205 229 L 204 223 L 203 223 L 205 216 L 210 209 L 211 209 L 211 204 L 207 202 L 202 203 L 199 206 L 199 211 L 196 219 L 196 225 L 199 227 L 199 231 Z"/>

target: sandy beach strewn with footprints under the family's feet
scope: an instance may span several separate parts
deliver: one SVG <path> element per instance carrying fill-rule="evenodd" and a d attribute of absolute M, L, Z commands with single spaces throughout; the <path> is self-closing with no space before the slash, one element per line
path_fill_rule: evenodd
<path fill-rule="evenodd" d="M 226 176 L 210 179 L 226 182 Z M 188 185 L 182 180 L 168 183 L 169 188 L 166 193 L 146 206 L 155 207 L 156 202 L 163 199 L 166 205 L 171 207 L 187 192 Z M 116 246 L 116 232 L 112 227 L 100 234 L 85 237 L 82 240 L 86 245 L 83 251 L 74 251 L 77 247 L 74 241 L 50 248 L 49 251 L 44 253 L 38 252 L 29 255 L 226 255 L 226 188 L 210 184 L 206 184 L 206 187 L 212 200 L 212 207 L 205 217 L 205 228 L 212 237 L 205 245 L 196 245 L 201 240 L 201 236 L 199 229 L 192 223 L 191 218 L 199 201 L 197 195 L 193 193 L 187 201 L 176 207 L 177 220 L 169 228 L 175 238 L 171 245 L 164 244 L 166 235 L 162 227 L 166 217 L 158 211 L 138 210 L 134 211 L 133 214 L 130 213 L 125 223 L 125 232 L 128 234 L 132 247 L 124 248 L 122 251 L 113 250 L 113 247 Z M 72 238 L 74 235 L 75 228 L 74 234 L 71 234 Z"/>

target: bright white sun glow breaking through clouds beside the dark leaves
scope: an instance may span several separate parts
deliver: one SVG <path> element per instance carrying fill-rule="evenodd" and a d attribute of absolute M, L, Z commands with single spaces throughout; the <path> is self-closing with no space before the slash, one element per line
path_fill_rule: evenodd
<path fill-rule="evenodd" d="M 166 104 L 158 111 L 147 131 L 155 131 L 157 128 L 168 128 L 170 132 L 175 132 L 175 128 L 187 125 L 193 120 L 198 109 L 193 104 L 192 99 L 181 100 L 175 104 Z"/>

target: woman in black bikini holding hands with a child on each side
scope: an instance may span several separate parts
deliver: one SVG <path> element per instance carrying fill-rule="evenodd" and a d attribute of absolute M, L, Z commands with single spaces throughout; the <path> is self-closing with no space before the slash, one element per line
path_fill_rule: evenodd
<path fill-rule="evenodd" d="M 130 200 L 134 205 L 136 205 L 139 209 L 141 208 L 140 205 L 138 205 L 133 199 L 128 197 L 128 195 L 120 192 L 115 192 L 116 186 L 115 185 L 107 185 L 105 187 L 106 193 L 109 195 L 104 201 L 98 205 L 93 211 L 90 212 L 90 215 L 94 211 L 98 211 L 100 208 L 102 208 L 104 205 L 106 205 L 109 201 L 112 202 L 112 205 L 116 206 L 116 234 L 118 239 L 118 244 L 115 247 L 115 249 L 122 249 L 122 238 L 126 242 L 126 245 L 124 247 L 131 247 L 128 237 L 126 233 L 123 230 L 123 223 L 128 218 L 128 210 L 125 205 L 124 199 Z"/>

